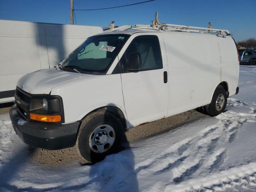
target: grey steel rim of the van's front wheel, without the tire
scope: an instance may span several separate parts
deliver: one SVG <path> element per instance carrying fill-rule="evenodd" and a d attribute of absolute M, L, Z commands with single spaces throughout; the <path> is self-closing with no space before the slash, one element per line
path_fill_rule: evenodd
<path fill-rule="evenodd" d="M 110 125 L 96 127 L 89 139 L 89 146 L 96 153 L 103 153 L 110 149 L 115 141 L 115 131 Z"/>

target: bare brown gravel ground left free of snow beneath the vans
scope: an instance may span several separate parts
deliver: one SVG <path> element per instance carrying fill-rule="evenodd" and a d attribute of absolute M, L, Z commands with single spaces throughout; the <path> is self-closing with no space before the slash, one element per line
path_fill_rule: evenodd
<path fill-rule="evenodd" d="M 10 107 L 0 108 L 0 114 L 8 113 L 9 109 Z M 178 115 L 130 128 L 125 132 L 126 141 L 124 141 L 124 148 L 129 146 L 129 142 L 135 142 L 156 134 L 174 130 L 182 124 L 204 116 L 206 115 L 197 112 L 196 110 L 190 110 Z M 88 163 L 80 159 L 75 147 L 62 150 L 45 150 L 28 146 L 28 151 L 35 162 L 43 165 L 61 166 L 72 161 L 80 161 L 81 164 Z"/>

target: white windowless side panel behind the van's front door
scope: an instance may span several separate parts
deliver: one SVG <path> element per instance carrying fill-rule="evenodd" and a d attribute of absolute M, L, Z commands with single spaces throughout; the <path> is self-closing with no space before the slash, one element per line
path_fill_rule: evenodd
<path fill-rule="evenodd" d="M 178 32 L 163 36 L 169 65 L 168 116 L 209 104 L 222 81 L 233 82 L 229 91 L 234 94 L 238 66 L 232 38 Z"/>

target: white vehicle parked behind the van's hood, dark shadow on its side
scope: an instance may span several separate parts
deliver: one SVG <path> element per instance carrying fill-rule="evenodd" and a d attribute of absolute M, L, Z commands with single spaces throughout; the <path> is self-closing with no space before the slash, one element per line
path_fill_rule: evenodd
<path fill-rule="evenodd" d="M 0 103 L 14 101 L 23 75 L 50 68 L 66 58 L 97 26 L 0 20 Z"/>

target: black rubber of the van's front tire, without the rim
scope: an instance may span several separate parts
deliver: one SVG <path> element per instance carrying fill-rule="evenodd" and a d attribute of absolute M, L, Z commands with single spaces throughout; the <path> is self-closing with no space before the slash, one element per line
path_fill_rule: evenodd
<path fill-rule="evenodd" d="M 89 141 L 92 132 L 98 126 L 109 125 L 114 129 L 114 144 L 106 152 L 94 152 L 90 147 Z M 124 136 L 124 129 L 120 120 L 113 114 L 106 111 L 97 111 L 89 114 L 82 120 L 76 140 L 76 149 L 82 158 L 91 163 L 103 160 L 107 155 L 116 153 L 120 150 Z M 96 137 L 95 135 L 93 137 Z"/>

